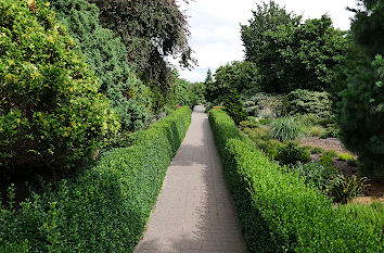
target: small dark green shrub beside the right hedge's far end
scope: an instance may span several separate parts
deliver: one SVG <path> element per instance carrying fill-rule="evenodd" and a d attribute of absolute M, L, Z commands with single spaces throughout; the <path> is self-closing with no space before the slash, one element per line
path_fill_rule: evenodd
<path fill-rule="evenodd" d="M 236 91 L 230 91 L 222 103 L 222 110 L 229 113 L 236 125 L 242 121 L 246 121 L 248 113 L 243 109 L 243 103 Z"/>

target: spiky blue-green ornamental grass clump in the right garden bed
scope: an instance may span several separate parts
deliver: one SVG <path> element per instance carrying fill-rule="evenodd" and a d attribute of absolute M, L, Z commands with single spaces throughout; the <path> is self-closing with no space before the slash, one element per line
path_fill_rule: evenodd
<path fill-rule="evenodd" d="M 271 124 L 272 138 L 280 141 L 295 140 L 306 135 L 304 124 L 296 117 L 286 116 Z"/>

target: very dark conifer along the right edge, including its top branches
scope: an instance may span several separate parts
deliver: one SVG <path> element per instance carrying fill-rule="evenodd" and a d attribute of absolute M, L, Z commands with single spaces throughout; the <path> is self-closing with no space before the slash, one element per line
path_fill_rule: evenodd
<path fill-rule="evenodd" d="M 356 152 L 363 174 L 384 174 L 383 1 L 358 1 L 353 37 L 371 64 L 360 64 L 348 77 L 338 115 L 340 136 Z M 368 37 L 364 37 L 368 36 Z M 371 36 L 371 37 L 369 37 Z"/>

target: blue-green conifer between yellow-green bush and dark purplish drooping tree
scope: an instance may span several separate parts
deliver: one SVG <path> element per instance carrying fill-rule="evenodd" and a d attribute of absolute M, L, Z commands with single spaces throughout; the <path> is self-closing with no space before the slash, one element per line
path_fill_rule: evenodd
<path fill-rule="evenodd" d="M 99 23 L 99 9 L 87 0 L 51 0 L 57 20 L 67 26 L 90 68 L 95 72 L 100 90 L 120 114 L 121 130 L 137 130 L 151 119 L 148 88 L 128 66 L 128 53 L 119 37 Z"/>

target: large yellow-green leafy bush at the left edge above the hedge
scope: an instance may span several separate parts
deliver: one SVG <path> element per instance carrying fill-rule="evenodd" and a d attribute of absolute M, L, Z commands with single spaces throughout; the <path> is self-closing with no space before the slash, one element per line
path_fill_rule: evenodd
<path fill-rule="evenodd" d="M 0 2 L 0 164 L 5 167 L 74 165 L 119 128 L 97 77 L 48 5 Z"/>

